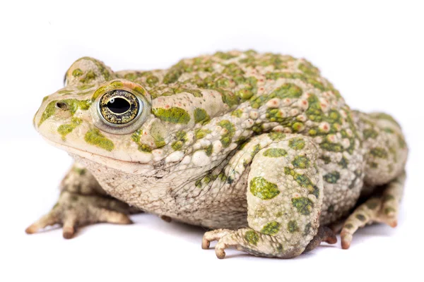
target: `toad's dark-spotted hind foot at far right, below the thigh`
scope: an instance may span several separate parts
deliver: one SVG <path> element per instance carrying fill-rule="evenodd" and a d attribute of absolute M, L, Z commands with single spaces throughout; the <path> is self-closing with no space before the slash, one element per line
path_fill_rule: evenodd
<path fill-rule="evenodd" d="M 343 249 L 348 249 L 351 246 L 353 233 L 366 224 L 380 222 L 396 227 L 404 183 L 405 173 L 402 173 L 401 176 L 387 184 L 382 195 L 371 197 L 348 216 L 340 234 Z"/>

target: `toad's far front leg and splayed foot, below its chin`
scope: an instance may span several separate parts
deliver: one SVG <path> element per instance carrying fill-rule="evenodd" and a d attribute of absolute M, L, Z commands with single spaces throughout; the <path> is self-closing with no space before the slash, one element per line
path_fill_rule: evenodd
<path fill-rule="evenodd" d="M 133 212 L 136 212 L 134 208 L 110 197 L 63 191 L 52 210 L 26 228 L 25 232 L 33 234 L 46 226 L 61 224 L 64 238 L 69 239 L 78 226 L 99 222 L 132 223 L 128 214 Z"/>

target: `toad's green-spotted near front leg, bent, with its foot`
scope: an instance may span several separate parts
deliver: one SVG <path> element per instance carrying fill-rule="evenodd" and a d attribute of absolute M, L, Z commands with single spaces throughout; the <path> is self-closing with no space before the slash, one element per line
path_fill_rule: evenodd
<path fill-rule="evenodd" d="M 257 151 L 247 188 L 249 228 L 207 232 L 202 247 L 218 240 L 215 250 L 220 259 L 227 247 L 290 258 L 311 250 L 317 241 L 336 243 L 329 230 L 317 234 L 323 198 L 317 153 L 314 143 L 300 135 L 287 135 Z"/>

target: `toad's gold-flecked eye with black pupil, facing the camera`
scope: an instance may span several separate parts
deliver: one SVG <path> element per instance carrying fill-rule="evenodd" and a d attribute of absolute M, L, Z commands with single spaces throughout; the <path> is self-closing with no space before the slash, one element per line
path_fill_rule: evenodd
<path fill-rule="evenodd" d="M 98 104 L 98 112 L 107 125 L 122 127 L 139 118 L 143 102 L 136 95 L 125 90 L 113 90 L 103 94 Z"/>

